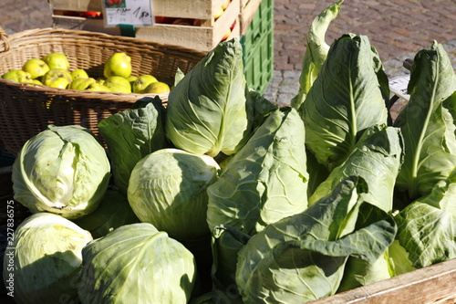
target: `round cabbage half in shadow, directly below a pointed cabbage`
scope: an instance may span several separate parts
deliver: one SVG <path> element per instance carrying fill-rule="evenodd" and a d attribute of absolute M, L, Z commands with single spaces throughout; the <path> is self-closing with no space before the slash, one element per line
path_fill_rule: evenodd
<path fill-rule="evenodd" d="M 210 236 L 206 189 L 220 169 L 211 156 L 161 149 L 140 160 L 130 175 L 128 197 L 141 222 L 177 240 Z"/>

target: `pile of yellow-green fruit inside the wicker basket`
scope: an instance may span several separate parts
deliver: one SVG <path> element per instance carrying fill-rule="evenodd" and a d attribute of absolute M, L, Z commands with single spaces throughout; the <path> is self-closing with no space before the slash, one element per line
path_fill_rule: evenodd
<path fill-rule="evenodd" d="M 131 58 L 125 53 L 112 54 L 104 64 L 103 75 L 103 78 L 95 79 L 89 77 L 84 69 L 71 70 L 65 54 L 51 53 L 43 58 L 26 60 L 22 69 L 9 70 L 2 75 L 2 79 L 57 89 L 136 94 L 161 94 L 170 91 L 168 84 L 152 75 L 131 76 Z"/>

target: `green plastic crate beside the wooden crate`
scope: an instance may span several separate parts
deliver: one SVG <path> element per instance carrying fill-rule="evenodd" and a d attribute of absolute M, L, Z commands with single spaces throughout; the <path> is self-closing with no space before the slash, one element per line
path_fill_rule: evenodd
<path fill-rule="evenodd" d="M 263 93 L 274 73 L 274 0 L 262 0 L 240 41 L 247 85 Z"/>

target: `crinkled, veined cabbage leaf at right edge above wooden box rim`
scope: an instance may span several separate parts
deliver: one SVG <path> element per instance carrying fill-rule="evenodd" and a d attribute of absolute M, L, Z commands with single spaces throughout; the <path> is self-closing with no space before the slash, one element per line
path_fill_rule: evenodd
<path fill-rule="evenodd" d="M 425 195 L 399 212 L 399 246 L 395 264 L 409 260 L 413 268 L 428 267 L 456 257 L 456 170 Z M 400 274 L 397 267 L 396 274 Z M 407 269 L 406 269 L 407 270 Z"/>

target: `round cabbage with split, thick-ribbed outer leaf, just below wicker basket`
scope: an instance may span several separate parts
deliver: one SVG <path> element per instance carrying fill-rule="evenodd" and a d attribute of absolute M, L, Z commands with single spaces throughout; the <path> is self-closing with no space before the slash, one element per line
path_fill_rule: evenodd
<path fill-rule="evenodd" d="M 17 154 L 13 190 L 32 212 L 75 219 L 97 208 L 109 175 L 108 156 L 88 129 L 50 125 Z"/>

